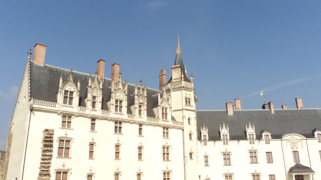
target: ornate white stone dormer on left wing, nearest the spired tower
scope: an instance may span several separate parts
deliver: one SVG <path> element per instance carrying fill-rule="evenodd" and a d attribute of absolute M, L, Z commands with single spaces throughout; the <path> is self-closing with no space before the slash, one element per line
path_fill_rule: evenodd
<path fill-rule="evenodd" d="M 172 120 L 171 94 L 167 95 L 166 87 L 163 86 L 163 93 L 158 91 L 158 118 L 163 121 Z"/>

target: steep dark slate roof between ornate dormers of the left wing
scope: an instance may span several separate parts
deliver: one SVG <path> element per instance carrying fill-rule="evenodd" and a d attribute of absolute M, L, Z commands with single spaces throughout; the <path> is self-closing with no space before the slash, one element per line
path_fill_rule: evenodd
<path fill-rule="evenodd" d="M 45 64 L 44 66 L 36 65 L 34 61 L 30 61 L 30 85 L 31 85 L 31 97 L 38 100 L 57 102 L 57 92 L 59 89 L 59 79 L 60 75 L 63 74 L 64 81 L 69 77 L 69 69 L 60 68 L 52 65 Z M 79 106 L 86 106 L 85 98 L 87 97 L 88 91 L 88 79 L 89 74 L 73 71 L 73 81 L 77 85 L 78 79 L 80 80 L 80 98 Z M 94 75 L 92 77 L 94 79 Z M 93 80 L 92 80 L 93 81 Z M 107 106 L 107 101 L 110 100 L 111 95 L 111 79 L 104 78 L 102 85 L 102 109 L 109 110 Z M 130 97 L 131 94 L 135 92 L 135 85 L 128 83 L 127 88 L 127 102 L 128 104 L 133 104 L 131 102 L 133 98 Z M 154 104 L 158 104 L 158 97 L 153 98 L 154 94 L 158 94 L 158 90 L 147 88 L 147 116 L 155 117 L 152 110 Z M 132 113 L 130 105 L 127 106 L 127 113 Z"/>

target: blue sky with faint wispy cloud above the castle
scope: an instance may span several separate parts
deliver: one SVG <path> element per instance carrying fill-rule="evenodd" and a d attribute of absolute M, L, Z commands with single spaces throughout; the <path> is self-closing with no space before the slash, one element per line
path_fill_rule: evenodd
<path fill-rule="evenodd" d="M 27 51 L 46 44 L 45 63 L 95 72 L 119 63 L 129 83 L 158 88 L 168 79 L 177 32 L 193 72 L 197 109 L 259 109 L 260 90 L 275 108 L 321 107 L 320 0 L 1 0 L 0 150 L 6 149 Z"/>

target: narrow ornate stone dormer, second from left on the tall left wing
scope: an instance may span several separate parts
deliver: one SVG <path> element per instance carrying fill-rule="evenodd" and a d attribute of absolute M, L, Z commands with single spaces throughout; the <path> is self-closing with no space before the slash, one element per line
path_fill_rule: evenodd
<path fill-rule="evenodd" d="M 91 109 L 101 109 L 102 103 L 102 78 L 99 80 L 95 72 L 94 81 L 92 81 L 91 73 L 88 79 L 88 92 L 86 97 L 86 105 Z"/>

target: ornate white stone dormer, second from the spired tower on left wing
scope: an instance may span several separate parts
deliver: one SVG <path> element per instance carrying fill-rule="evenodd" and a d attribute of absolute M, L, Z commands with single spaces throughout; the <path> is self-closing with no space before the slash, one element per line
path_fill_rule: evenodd
<path fill-rule="evenodd" d="M 142 86 L 142 80 L 139 80 L 139 87 L 135 83 L 135 99 L 133 113 L 138 116 L 146 116 L 147 114 L 147 89 L 146 84 Z"/>

